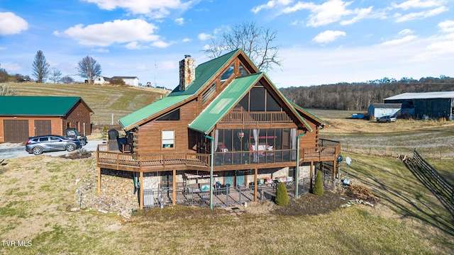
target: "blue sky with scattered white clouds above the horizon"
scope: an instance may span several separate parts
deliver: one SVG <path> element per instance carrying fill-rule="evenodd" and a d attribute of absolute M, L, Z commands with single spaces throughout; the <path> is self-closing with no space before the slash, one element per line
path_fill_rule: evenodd
<path fill-rule="evenodd" d="M 138 77 L 174 88 L 179 60 L 243 22 L 277 31 L 278 87 L 384 77 L 454 77 L 450 0 L 0 0 L 0 64 L 32 74 L 42 50 L 50 67 L 78 81 L 91 56 L 104 77 Z"/>

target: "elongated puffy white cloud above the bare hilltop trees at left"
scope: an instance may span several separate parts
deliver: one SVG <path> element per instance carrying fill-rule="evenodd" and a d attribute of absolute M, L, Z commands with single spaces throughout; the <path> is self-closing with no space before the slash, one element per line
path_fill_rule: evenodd
<path fill-rule="evenodd" d="M 153 34 L 156 29 L 157 27 L 152 23 L 133 19 L 108 21 L 85 27 L 79 24 L 68 28 L 63 33 L 55 31 L 54 35 L 74 38 L 82 45 L 106 47 L 114 43 L 159 40 L 159 35 Z"/>

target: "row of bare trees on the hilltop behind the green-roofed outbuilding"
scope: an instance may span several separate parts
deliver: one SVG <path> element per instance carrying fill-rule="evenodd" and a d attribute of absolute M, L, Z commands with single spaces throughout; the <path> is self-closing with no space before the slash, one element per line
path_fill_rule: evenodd
<path fill-rule="evenodd" d="M 101 65 L 94 60 L 93 57 L 84 57 L 82 60 L 77 62 L 76 66 L 79 77 L 87 79 L 88 83 L 92 83 L 95 77 L 101 75 Z M 32 64 L 32 76 L 35 77 L 37 83 L 43 83 L 47 79 L 53 81 L 53 83 L 61 82 L 64 84 L 74 83 L 74 79 L 70 75 L 63 76 L 62 72 L 55 67 L 50 67 L 50 64 L 45 59 L 42 50 L 36 52 L 35 58 Z M 0 82 L 24 82 L 31 81 L 32 79 L 28 75 L 22 74 L 8 74 L 5 69 L 1 68 L 0 64 Z"/>

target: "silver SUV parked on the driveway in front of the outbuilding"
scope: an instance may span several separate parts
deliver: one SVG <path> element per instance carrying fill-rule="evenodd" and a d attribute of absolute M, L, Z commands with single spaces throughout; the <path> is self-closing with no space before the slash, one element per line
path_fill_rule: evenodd
<path fill-rule="evenodd" d="M 75 149 L 82 148 L 80 141 L 60 135 L 40 135 L 36 137 L 28 137 L 26 142 L 26 152 L 35 155 L 43 154 L 43 152 L 53 152 L 57 150 L 67 150 L 72 152 Z"/>

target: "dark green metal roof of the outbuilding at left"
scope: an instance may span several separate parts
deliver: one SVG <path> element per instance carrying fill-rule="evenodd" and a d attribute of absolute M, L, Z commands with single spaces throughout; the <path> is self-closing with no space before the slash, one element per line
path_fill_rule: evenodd
<path fill-rule="evenodd" d="M 79 100 L 79 96 L 0 96 L 0 115 L 64 116 Z"/>

